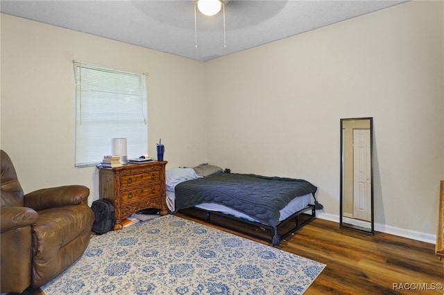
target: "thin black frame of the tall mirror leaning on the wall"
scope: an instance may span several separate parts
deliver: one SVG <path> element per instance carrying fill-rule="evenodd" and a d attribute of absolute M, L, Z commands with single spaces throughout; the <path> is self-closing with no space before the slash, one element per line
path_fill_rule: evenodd
<path fill-rule="evenodd" d="M 344 161 L 344 147 L 343 147 L 343 142 L 344 142 L 344 138 L 343 138 L 343 123 L 345 121 L 352 121 L 352 120 L 369 120 L 370 123 L 370 228 L 368 228 L 367 226 L 359 226 L 357 224 L 349 224 L 343 221 L 343 201 L 344 201 L 344 188 L 343 188 L 343 184 L 344 184 L 344 167 L 343 167 L 343 161 Z M 340 196 L 339 196 L 339 203 L 340 203 L 340 213 L 339 213 L 339 226 L 341 228 L 344 229 L 352 229 L 354 231 L 360 231 L 362 233 L 370 233 L 372 235 L 375 234 L 375 222 L 374 222 L 374 210 L 373 210 L 373 117 L 366 117 L 366 118 L 341 118 L 341 129 L 340 129 L 340 134 L 341 134 L 341 154 L 340 154 L 340 161 L 341 161 L 341 171 L 340 171 L 340 175 L 341 175 L 341 183 L 340 183 Z M 366 224 L 366 221 L 361 221 L 359 220 L 359 222 L 362 222 L 363 224 Z M 359 223 L 357 222 L 357 223 Z"/>

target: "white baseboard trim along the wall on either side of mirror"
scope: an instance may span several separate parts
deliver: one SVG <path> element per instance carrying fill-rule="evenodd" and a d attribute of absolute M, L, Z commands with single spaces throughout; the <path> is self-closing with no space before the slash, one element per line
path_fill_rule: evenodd
<path fill-rule="evenodd" d="M 316 211 L 316 217 L 321 220 L 329 220 L 331 222 L 336 222 L 339 226 L 339 215 L 334 215 L 330 213 L 323 213 L 321 211 Z M 399 227 L 389 226 L 386 224 L 375 223 L 375 231 L 381 233 L 388 233 L 391 235 L 398 235 L 403 238 L 409 238 L 411 240 L 418 240 L 421 242 L 427 242 L 430 244 L 436 244 L 436 235 L 430 233 L 420 233 L 419 231 L 411 231 L 409 229 L 400 229 Z"/>

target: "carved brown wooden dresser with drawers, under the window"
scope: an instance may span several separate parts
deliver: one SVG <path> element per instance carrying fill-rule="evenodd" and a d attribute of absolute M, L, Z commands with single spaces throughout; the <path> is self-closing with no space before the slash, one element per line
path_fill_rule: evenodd
<path fill-rule="evenodd" d="M 157 208 L 160 215 L 168 214 L 165 191 L 167 163 L 128 163 L 119 168 L 99 170 L 99 197 L 114 205 L 114 230 L 122 229 L 122 220 L 144 208 Z"/>

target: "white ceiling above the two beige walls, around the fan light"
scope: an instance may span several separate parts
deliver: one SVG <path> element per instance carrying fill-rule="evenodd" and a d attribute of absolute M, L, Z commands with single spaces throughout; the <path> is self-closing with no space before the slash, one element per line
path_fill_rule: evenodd
<path fill-rule="evenodd" d="M 223 13 L 204 17 L 194 0 L 1 0 L 8 15 L 207 61 L 365 15 L 405 1 L 231 0 Z"/>

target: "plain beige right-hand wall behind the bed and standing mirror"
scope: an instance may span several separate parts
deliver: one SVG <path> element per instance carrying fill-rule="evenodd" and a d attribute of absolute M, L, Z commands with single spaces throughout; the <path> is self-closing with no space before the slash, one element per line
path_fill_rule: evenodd
<path fill-rule="evenodd" d="M 444 178 L 443 10 L 404 3 L 207 62 L 209 161 L 308 179 L 334 219 L 340 118 L 373 117 L 376 230 L 432 238 Z"/>

